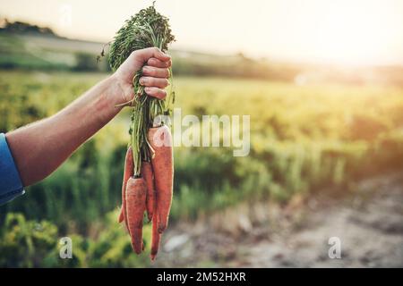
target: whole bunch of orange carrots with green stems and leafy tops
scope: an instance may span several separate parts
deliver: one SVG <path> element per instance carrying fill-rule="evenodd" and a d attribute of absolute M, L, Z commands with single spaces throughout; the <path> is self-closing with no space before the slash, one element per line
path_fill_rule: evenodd
<path fill-rule="evenodd" d="M 174 40 L 167 17 L 158 13 L 152 4 L 125 21 L 117 31 L 109 50 L 110 66 L 116 71 L 134 50 L 157 46 L 165 52 L 167 45 Z M 140 78 L 141 70 L 133 77 L 133 101 L 127 103 L 133 106 L 129 130 L 131 140 L 124 162 L 122 209 L 118 222 L 124 222 L 133 251 L 140 254 L 144 250 L 142 225 L 147 211 L 152 223 L 150 257 L 154 260 L 159 251 L 161 234 L 167 229 L 172 202 L 172 136 L 163 118 L 171 114 L 170 105 L 174 104 L 175 93 L 171 90 L 163 100 L 148 97 L 139 82 Z"/>

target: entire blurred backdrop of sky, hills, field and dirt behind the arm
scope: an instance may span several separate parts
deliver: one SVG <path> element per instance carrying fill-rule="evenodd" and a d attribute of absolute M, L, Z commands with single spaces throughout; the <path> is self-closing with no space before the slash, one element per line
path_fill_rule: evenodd
<path fill-rule="evenodd" d="M 55 114 L 151 1 L 0 0 L 0 131 Z M 251 115 L 251 152 L 176 147 L 159 257 L 117 220 L 130 111 L 0 206 L 3 267 L 403 266 L 403 2 L 162 1 L 183 114 Z M 73 259 L 59 258 L 60 238 Z M 331 259 L 331 237 L 341 259 Z"/>

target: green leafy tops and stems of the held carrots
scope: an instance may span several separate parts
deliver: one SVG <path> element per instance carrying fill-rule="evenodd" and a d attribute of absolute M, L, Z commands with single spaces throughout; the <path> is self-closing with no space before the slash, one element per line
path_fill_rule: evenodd
<path fill-rule="evenodd" d="M 133 51 L 150 46 L 157 46 L 166 51 L 168 44 L 174 40 L 167 17 L 158 13 L 152 5 L 136 13 L 117 31 L 110 46 L 109 63 L 116 71 Z M 147 131 L 157 116 L 169 114 L 170 103 L 175 100 L 175 94 L 172 92 L 164 100 L 147 97 L 140 84 L 140 78 L 141 70 L 133 77 L 133 101 L 126 103 L 133 105 L 129 133 L 132 135 L 134 176 L 141 175 L 141 161 L 150 162 L 152 149 L 147 139 Z"/>

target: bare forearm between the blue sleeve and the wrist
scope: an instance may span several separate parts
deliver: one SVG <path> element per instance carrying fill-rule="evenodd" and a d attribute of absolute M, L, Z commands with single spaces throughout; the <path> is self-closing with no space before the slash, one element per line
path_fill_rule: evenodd
<path fill-rule="evenodd" d="M 114 77 L 102 80 L 59 113 L 6 134 L 24 186 L 47 177 L 119 111 Z"/>

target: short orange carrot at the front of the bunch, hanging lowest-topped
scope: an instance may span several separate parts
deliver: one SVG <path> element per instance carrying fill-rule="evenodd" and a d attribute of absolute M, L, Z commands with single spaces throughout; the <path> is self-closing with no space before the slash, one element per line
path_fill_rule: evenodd
<path fill-rule="evenodd" d="M 126 186 L 126 221 L 132 238 L 132 248 L 137 254 L 143 249 L 142 219 L 146 210 L 147 186 L 142 178 L 131 177 Z"/>

